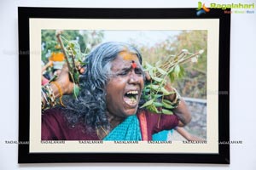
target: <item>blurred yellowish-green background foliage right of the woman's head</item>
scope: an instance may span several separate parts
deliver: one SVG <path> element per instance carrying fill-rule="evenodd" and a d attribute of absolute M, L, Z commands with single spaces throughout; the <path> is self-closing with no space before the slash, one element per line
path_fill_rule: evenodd
<path fill-rule="evenodd" d="M 166 37 L 165 41 L 156 43 L 154 47 L 138 48 L 143 54 L 143 65 L 146 61 L 154 65 L 158 61 L 166 60 L 172 54 L 177 54 L 182 49 L 187 49 L 192 53 L 203 49 L 204 53 L 196 63 L 193 65 L 185 63 L 180 67 L 183 69 L 183 77 L 172 81 L 172 86 L 176 87 L 183 97 L 207 98 L 207 31 L 181 31 L 175 37 Z"/>

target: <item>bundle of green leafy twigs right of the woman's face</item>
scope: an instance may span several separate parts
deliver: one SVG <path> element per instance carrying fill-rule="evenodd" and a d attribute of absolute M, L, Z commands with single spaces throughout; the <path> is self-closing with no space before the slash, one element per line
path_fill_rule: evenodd
<path fill-rule="evenodd" d="M 165 88 L 166 83 L 167 81 L 174 82 L 183 77 L 185 71 L 182 65 L 188 62 L 196 62 L 202 53 L 203 50 L 200 50 L 198 53 L 191 54 L 188 50 L 183 49 L 180 53 L 170 55 L 154 65 L 146 63 L 144 71 L 148 73 L 151 79 L 146 81 L 143 88 L 142 99 L 146 102 L 141 108 L 146 108 L 148 111 L 155 113 L 172 114 L 172 109 L 175 106 L 171 101 L 165 99 L 165 96 L 175 94 L 175 92 L 168 92 Z"/>

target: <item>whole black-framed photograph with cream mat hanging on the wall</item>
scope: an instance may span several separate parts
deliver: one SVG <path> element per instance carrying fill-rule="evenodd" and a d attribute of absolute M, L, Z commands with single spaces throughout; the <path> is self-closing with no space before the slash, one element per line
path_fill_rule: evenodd
<path fill-rule="evenodd" d="M 18 13 L 19 163 L 230 163 L 230 13 Z"/>

